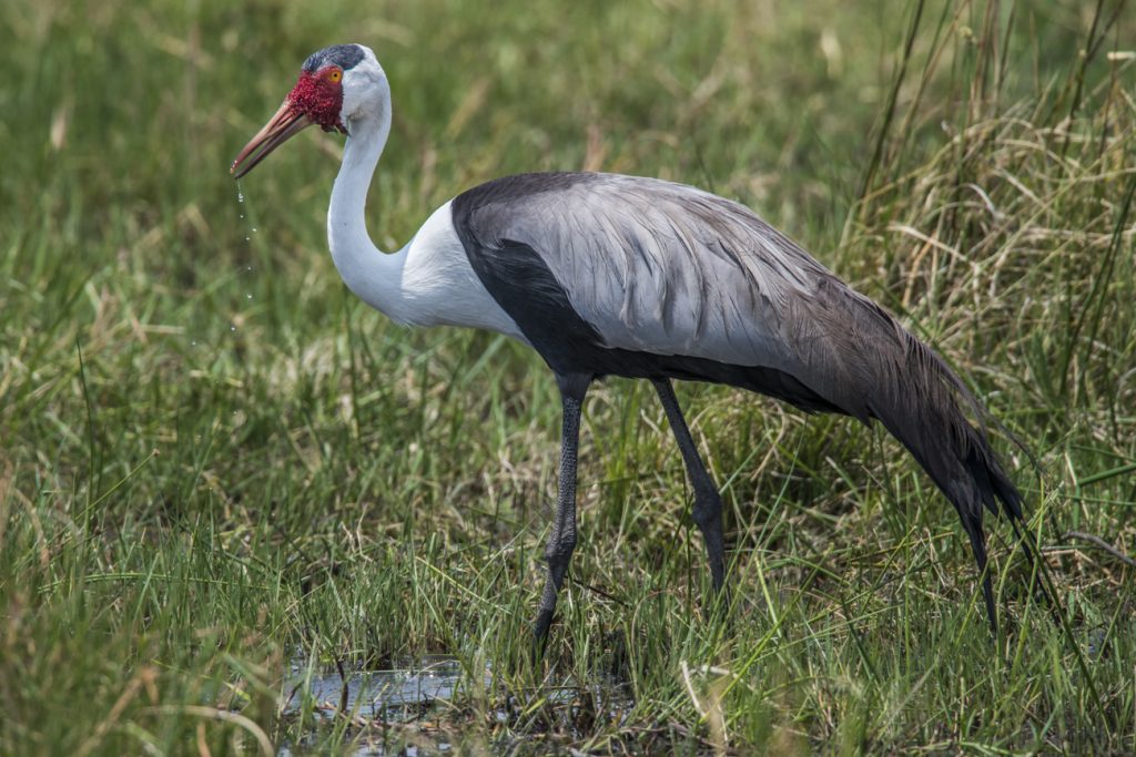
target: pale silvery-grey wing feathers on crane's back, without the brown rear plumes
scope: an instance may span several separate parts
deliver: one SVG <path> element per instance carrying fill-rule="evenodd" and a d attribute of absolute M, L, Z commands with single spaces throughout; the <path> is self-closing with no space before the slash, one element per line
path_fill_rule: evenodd
<path fill-rule="evenodd" d="M 608 347 L 784 362 L 792 300 L 833 278 L 749 209 L 690 186 L 605 174 L 502 180 L 524 186 L 483 208 L 483 229 L 536 250 Z"/>

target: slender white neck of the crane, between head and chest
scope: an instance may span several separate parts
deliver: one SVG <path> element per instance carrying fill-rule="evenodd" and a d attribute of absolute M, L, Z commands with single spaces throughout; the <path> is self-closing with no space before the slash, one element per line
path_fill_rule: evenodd
<path fill-rule="evenodd" d="M 327 210 L 327 242 L 348 288 L 371 308 L 404 321 L 401 283 L 407 251 L 381 252 L 367 235 L 365 217 L 367 190 L 390 133 L 390 109 L 351 125 Z"/>

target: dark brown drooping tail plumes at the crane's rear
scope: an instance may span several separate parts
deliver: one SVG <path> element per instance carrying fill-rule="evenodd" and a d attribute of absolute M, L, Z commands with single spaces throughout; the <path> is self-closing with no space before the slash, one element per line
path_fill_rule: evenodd
<path fill-rule="evenodd" d="M 1016 530 L 1025 521 L 1021 494 L 982 426 L 983 406 L 934 350 L 835 278 L 819 280 L 811 300 L 791 301 L 785 323 L 787 344 L 801 365 L 796 378 L 841 412 L 866 423 L 879 420 L 954 505 L 970 538 L 996 632 L 983 510 L 1004 514 Z M 971 424 L 964 411 L 979 426 Z"/>

